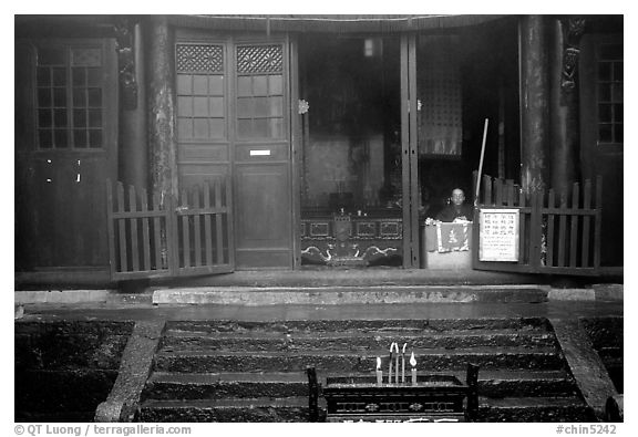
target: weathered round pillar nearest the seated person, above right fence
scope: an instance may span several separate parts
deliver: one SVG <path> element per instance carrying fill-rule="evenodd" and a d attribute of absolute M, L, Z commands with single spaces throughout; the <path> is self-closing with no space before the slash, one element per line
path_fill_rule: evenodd
<path fill-rule="evenodd" d="M 543 15 L 525 15 L 518 25 L 521 69 L 521 185 L 527 194 L 547 184 L 549 90 Z"/>

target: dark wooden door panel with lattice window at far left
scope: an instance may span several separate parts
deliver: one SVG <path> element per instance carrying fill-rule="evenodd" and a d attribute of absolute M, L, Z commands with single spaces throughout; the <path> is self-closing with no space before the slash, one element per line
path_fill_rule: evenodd
<path fill-rule="evenodd" d="M 116 171 L 116 63 L 106 40 L 16 45 L 16 270 L 105 267 Z"/>

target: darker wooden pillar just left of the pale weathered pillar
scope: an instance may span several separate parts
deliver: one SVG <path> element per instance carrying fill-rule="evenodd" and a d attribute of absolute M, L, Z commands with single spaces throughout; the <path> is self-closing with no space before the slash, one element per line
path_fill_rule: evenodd
<path fill-rule="evenodd" d="M 146 143 L 146 83 L 144 34 L 142 24 L 131 27 L 132 74 L 135 93 L 125 100 L 121 112 L 122 153 L 120 154 L 120 180 L 125 185 L 147 188 L 148 146 Z"/>

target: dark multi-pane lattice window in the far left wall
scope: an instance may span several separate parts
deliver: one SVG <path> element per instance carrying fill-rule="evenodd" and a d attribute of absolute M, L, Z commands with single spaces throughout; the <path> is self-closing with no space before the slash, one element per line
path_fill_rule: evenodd
<path fill-rule="evenodd" d="M 100 46 L 38 49 L 38 146 L 103 146 L 104 72 Z"/>

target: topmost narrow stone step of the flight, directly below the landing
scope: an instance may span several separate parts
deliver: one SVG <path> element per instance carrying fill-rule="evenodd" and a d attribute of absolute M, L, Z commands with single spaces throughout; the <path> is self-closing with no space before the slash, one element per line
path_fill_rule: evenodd
<path fill-rule="evenodd" d="M 485 319 L 337 319 L 337 320 L 276 320 L 276 321 L 167 321 L 166 335 L 191 332 L 194 335 L 207 333 L 272 332 L 294 334 L 305 332 L 312 335 L 349 331 L 380 331 L 405 333 L 412 331 L 444 333 L 471 330 L 521 330 L 552 332 L 544 318 L 485 318 Z"/>

